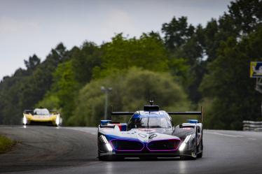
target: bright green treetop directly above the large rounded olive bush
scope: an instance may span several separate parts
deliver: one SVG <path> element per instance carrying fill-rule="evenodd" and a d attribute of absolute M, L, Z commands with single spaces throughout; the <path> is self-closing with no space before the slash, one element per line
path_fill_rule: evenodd
<path fill-rule="evenodd" d="M 151 71 L 167 71 L 168 57 L 163 42 L 156 35 L 142 34 L 139 39 L 117 34 L 111 43 L 102 46 L 102 68 L 95 76 L 122 71 L 132 66 Z"/>

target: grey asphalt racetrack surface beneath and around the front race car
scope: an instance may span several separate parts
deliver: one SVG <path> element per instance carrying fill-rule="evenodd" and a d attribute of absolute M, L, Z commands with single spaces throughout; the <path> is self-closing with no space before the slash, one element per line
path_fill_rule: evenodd
<path fill-rule="evenodd" d="M 20 143 L 0 154 L 0 173 L 262 173 L 262 133 L 204 131 L 202 159 L 97 160 L 96 128 L 0 126 Z"/>

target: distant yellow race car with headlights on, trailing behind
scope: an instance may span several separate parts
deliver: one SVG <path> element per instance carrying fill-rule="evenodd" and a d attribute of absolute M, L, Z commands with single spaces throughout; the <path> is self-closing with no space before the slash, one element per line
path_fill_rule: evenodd
<path fill-rule="evenodd" d="M 53 126 L 61 126 L 62 118 L 60 113 L 56 111 L 49 111 L 46 108 L 36 108 L 34 110 L 24 110 L 24 117 L 22 123 L 29 124 L 46 124 Z"/>

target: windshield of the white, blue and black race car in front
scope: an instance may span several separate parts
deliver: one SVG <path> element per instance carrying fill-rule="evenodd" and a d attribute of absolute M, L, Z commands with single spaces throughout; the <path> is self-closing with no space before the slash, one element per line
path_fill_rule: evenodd
<path fill-rule="evenodd" d="M 132 117 L 128 123 L 128 129 L 136 128 L 170 128 L 170 119 L 165 116 L 140 116 Z"/>

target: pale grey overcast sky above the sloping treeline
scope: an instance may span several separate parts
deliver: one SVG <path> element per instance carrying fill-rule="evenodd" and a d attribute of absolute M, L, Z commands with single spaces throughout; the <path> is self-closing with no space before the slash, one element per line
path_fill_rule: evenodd
<path fill-rule="evenodd" d="M 0 0 L 0 80 L 25 68 L 36 54 L 41 60 L 62 42 L 71 49 L 84 41 L 100 45 L 120 32 L 139 37 L 161 31 L 172 17 L 202 24 L 219 18 L 230 0 Z"/>

